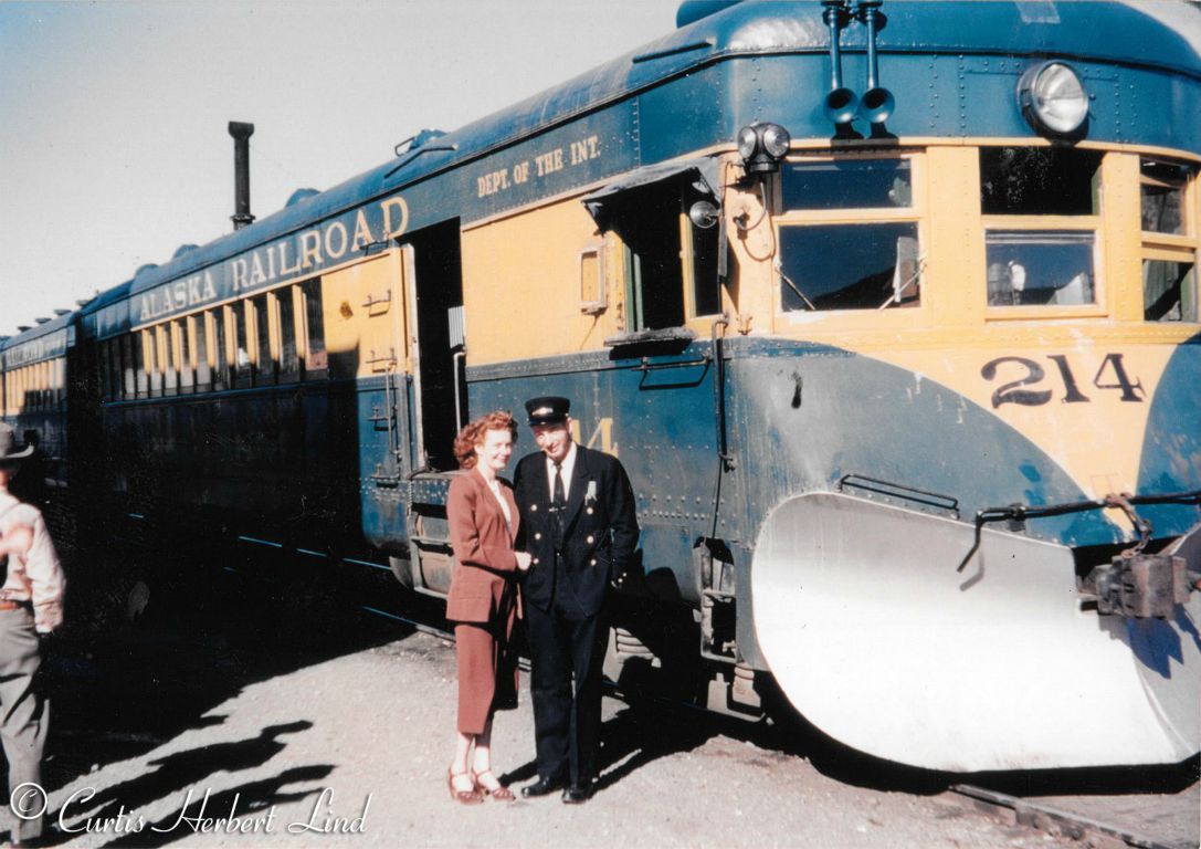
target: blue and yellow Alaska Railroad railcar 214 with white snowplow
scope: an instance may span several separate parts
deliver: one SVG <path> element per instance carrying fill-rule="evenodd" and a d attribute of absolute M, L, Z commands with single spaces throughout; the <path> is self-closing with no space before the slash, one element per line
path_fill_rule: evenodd
<path fill-rule="evenodd" d="M 937 770 L 1195 755 L 1197 11 L 677 23 L 84 307 L 107 500 L 437 594 L 458 425 L 566 395 L 638 497 L 619 680 Z"/>

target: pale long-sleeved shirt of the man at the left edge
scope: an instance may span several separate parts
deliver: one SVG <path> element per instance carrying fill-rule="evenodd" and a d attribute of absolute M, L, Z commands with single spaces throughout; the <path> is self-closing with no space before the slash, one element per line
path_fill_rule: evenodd
<path fill-rule="evenodd" d="M 31 603 L 34 627 L 38 633 L 48 634 L 62 623 L 66 579 L 62 576 L 59 555 L 54 550 L 41 510 L 0 491 L 0 534 L 18 525 L 32 528 L 34 543 L 24 557 L 8 557 L 8 576 L 0 590 L 0 598 Z"/>

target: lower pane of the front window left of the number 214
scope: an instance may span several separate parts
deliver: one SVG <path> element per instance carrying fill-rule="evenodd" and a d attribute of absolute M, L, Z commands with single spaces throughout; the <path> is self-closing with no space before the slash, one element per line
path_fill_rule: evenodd
<path fill-rule="evenodd" d="M 781 227 L 784 310 L 916 305 L 918 225 Z"/>

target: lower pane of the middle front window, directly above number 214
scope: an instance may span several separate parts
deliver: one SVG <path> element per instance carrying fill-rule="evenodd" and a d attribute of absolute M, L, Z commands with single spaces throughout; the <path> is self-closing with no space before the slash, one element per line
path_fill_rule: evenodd
<path fill-rule="evenodd" d="M 1093 233 L 990 231 L 988 305 L 1092 304 Z"/>

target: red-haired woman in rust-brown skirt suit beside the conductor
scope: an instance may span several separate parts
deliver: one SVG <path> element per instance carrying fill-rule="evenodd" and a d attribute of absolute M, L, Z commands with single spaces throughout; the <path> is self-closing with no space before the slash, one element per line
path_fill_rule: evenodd
<path fill-rule="evenodd" d="M 516 436 L 513 417 L 497 411 L 468 424 L 454 443 L 459 466 L 468 471 L 452 482 L 447 498 L 458 562 L 447 618 L 455 623 L 459 662 L 459 735 L 447 785 L 464 805 L 484 796 L 513 799 L 492 775 L 491 737 L 494 713 L 516 705 L 516 657 L 509 642 L 520 612 L 516 575 L 530 568 L 530 555 L 513 548 L 520 521 L 513 488 L 497 477 Z"/>

